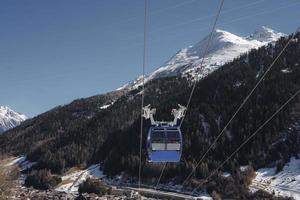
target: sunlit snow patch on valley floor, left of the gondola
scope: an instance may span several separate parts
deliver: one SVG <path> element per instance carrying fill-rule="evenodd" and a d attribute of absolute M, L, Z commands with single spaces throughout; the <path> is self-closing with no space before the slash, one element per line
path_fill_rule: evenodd
<path fill-rule="evenodd" d="M 99 164 L 91 165 L 84 170 L 76 170 L 72 173 L 65 174 L 62 176 L 62 183 L 56 190 L 66 193 L 77 193 L 79 185 L 87 178 L 101 178 L 104 176 L 99 167 Z"/>

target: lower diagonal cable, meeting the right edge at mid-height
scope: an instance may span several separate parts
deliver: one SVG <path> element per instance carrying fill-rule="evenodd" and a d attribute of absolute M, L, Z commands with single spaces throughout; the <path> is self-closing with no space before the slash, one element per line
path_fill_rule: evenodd
<path fill-rule="evenodd" d="M 209 176 L 207 176 L 207 178 L 201 182 L 195 189 L 194 192 L 200 188 L 204 183 L 208 182 L 209 179 L 215 175 L 218 170 L 224 166 L 224 164 L 226 162 L 228 162 L 239 150 L 241 150 L 241 148 L 243 148 L 256 134 L 258 134 L 283 108 L 285 108 L 285 106 L 290 103 L 295 97 L 297 97 L 300 94 L 300 89 L 294 93 L 283 105 L 281 105 L 281 107 L 279 109 L 277 109 L 276 112 L 274 112 L 271 117 L 269 117 L 258 129 L 256 129 L 256 131 L 254 133 L 252 133 L 252 135 L 250 135 L 233 153 L 230 154 L 230 156 L 228 156 L 212 173 L 210 173 Z"/>

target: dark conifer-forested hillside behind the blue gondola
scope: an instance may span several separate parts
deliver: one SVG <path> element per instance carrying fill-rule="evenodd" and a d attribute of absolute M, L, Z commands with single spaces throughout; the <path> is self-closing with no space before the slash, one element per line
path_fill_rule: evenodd
<path fill-rule="evenodd" d="M 195 160 L 207 150 L 287 40 L 281 38 L 275 45 L 252 50 L 199 81 L 182 126 L 182 161 L 168 165 L 163 180 L 177 177 L 180 182 L 190 173 Z M 198 167 L 195 177 L 206 177 L 300 88 L 299 55 L 298 33 Z M 186 104 L 191 83 L 186 78 L 169 77 L 153 80 L 145 88 L 145 104 L 157 108 L 158 119 L 168 120 L 172 108 L 178 103 Z M 112 102 L 106 109 L 100 109 Z M 238 174 L 240 165 L 258 168 L 297 156 L 299 136 L 282 133 L 291 123 L 290 113 L 296 103 L 297 100 L 292 101 L 222 170 Z M 52 173 L 101 162 L 107 174 L 125 171 L 137 175 L 140 109 L 141 88 L 76 100 L 1 135 L 1 151 L 26 154 L 28 159 L 38 162 L 36 169 L 47 168 Z M 149 125 L 145 123 L 144 138 Z M 156 177 L 159 172 L 159 166 L 147 164 L 144 143 L 143 178 Z"/>

